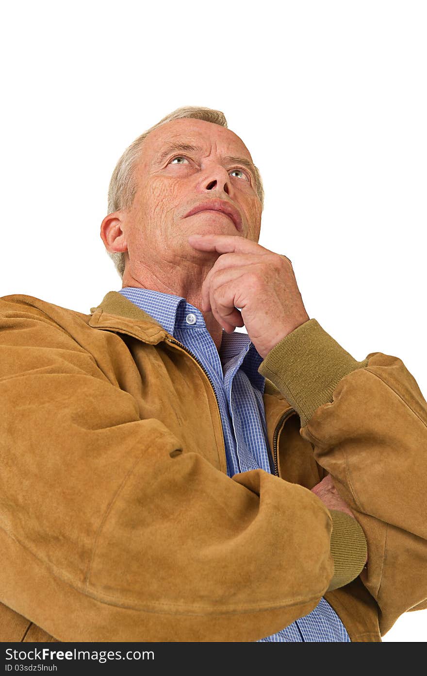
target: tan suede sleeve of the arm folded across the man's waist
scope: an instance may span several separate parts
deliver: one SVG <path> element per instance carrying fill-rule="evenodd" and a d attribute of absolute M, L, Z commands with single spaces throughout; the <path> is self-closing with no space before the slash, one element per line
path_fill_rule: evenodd
<path fill-rule="evenodd" d="M 254 641 L 357 576 L 351 517 L 336 581 L 311 491 L 186 452 L 19 298 L 0 299 L 1 602 L 61 641 Z"/>

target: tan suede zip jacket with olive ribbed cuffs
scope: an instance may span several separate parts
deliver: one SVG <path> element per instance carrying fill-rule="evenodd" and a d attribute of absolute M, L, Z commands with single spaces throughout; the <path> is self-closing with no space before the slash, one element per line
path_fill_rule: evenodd
<path fill-rule="evenodd" d="M 259 372 L 276 475 L 230 478 L 207 373 L 151 316 L 0 298 L 2 641 L 256 641 L 324 596 L 380 642 L 427 608 L 413 376 L 316 319 Z M 328 473 L 355 519 L 311 493 Z"/>

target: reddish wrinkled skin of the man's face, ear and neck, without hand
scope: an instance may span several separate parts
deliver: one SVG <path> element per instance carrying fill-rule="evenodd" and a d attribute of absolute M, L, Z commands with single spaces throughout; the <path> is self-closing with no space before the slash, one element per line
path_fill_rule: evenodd
<path fill-rule="evenodd" d="M 172 141 L 199 145 L 203 151 L 171 151 L 159 164 L 159 153 Z M 182 119 L 150 132 L 136 167 L 138 189 L 132 207 L 108 214 L 101 224 L 108 251 L 125 253 L 124 287 L 179 295 L 201 310 L 203 280 L 220 254 L 197 251 L 187 237 L 192 233 L 236 235 L 230 218 L 219 212 L 184 218 L 205 199 L 231 202 L 242 217 L 240 236 L 258 241 L 261 202 L 255 181 L 246 168 L 226 163 L 226 155 L 252 160 L 243 141 L 218 124 Z M 219 349 L 222 326 L 210 311 L 203 312 L 203 317 Z"/>

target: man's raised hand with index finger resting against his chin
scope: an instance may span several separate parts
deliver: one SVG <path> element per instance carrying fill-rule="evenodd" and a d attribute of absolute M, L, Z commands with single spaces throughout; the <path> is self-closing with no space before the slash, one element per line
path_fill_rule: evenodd
<path fill-rule="evenodd" d="M 227 333 L 245 326 L 262 358 L 309 320 L 286 256 L 235 235 L 188 239 L 194 249 L 222 254 L 203 282 L 201 311 L 210 310 Z"/>

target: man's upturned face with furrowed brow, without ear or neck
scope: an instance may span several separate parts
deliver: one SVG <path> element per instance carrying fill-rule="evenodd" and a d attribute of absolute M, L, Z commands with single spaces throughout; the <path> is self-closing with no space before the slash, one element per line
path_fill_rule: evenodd
<path fill-rule="evenodd" d="M 200 150 L 174 149 L 176 143 Z M 182 259 L 206 257 L 206 252 L 193 249 L 187 241 L 192 233 L 238 235 L 258 241 L 261 202 L 255 175 L 230 157 L 252 162 L 243 141 L 218 124 L 181 119 L 150 132 L 136 166 L 138 188 L 132 207 L 122 212 L 128 273 L 137 279 L 141 264 L 156 260 L 179 264 Z M 186 216 L 209 199 L 234 206 L 241 216 L 241 230 L 218 211 Z"/>

